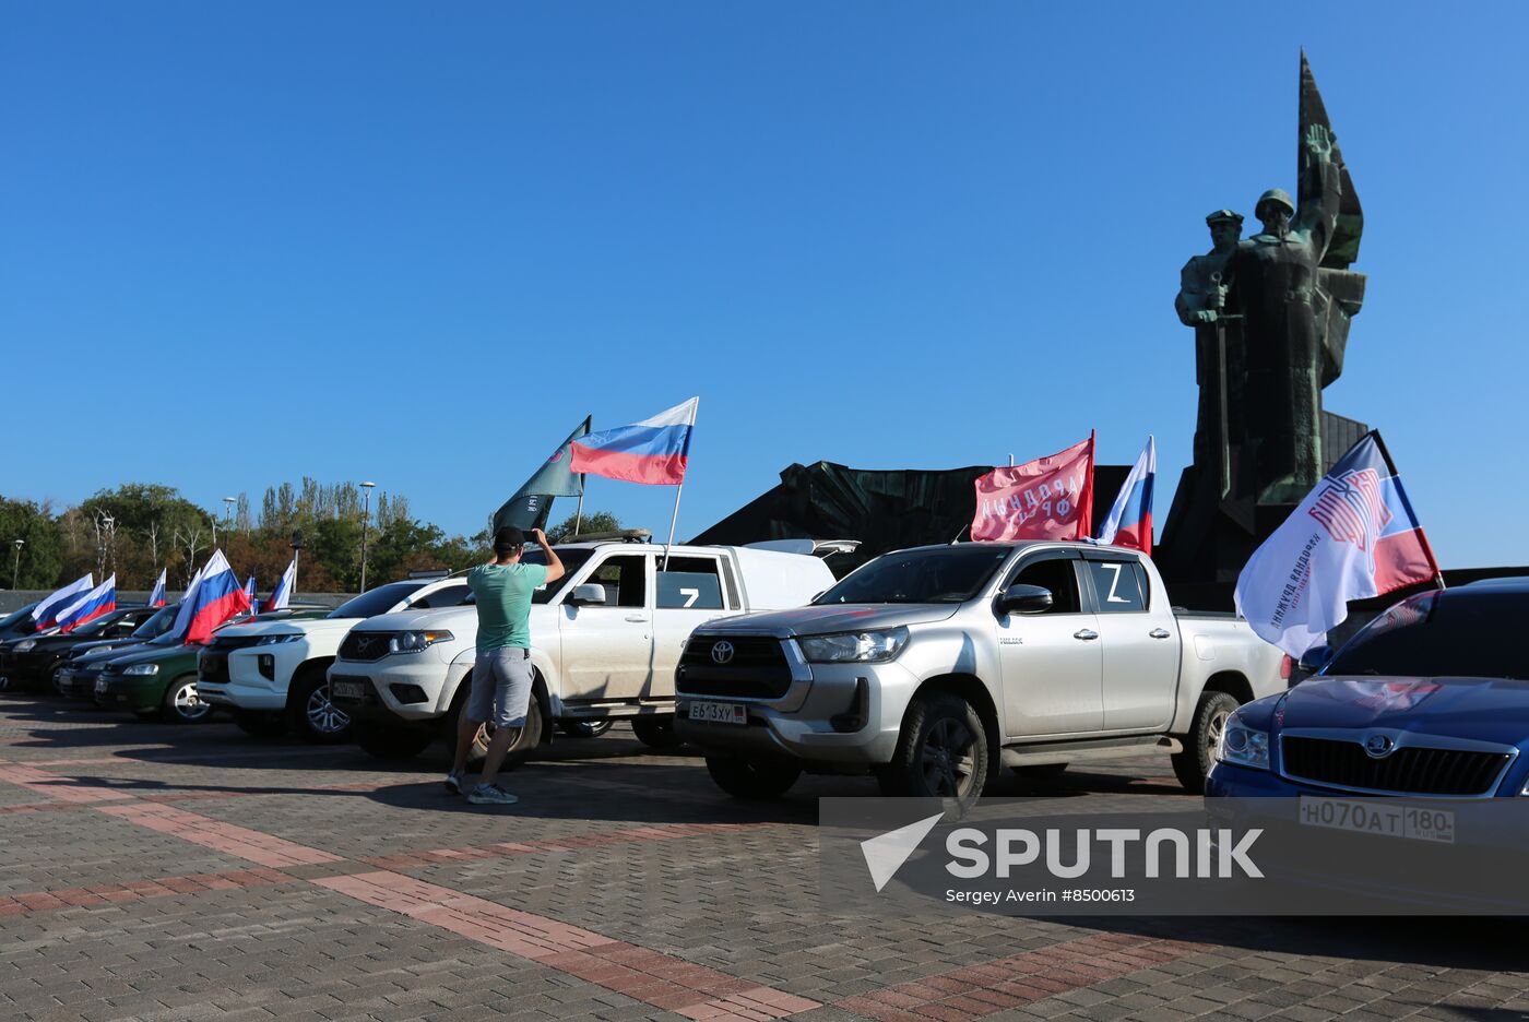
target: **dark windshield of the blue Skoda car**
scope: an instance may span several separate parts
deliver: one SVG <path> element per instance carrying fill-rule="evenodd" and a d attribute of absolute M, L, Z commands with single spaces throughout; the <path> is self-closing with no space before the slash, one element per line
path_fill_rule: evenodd
<path fill-rule="evenodd" d="M 1529 678 L 1518 628 L 1529 593 L 1451 590 L 1402 600 L 1338 651 L 1324 675 Z"/>

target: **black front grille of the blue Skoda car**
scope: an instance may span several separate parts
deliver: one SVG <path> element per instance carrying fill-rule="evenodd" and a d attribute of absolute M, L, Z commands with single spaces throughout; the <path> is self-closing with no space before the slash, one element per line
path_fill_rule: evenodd
<path fill-rule="evenodd" d="M 1407 745 L 1376 759 L 1355 741 L 1280 739 L 1287 778 L 1394 794 L 1488 794 L 1511 759 L 1505 752 Z"/>

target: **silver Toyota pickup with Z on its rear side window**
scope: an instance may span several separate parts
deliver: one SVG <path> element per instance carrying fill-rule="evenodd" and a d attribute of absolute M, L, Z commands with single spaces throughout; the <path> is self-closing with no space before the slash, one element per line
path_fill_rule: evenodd
<path fill-rule="evenodd" d="M 1168 603 L 1151 561 L 1078 542 L 884 555 L 804 606 L 696 629 L 677 732 L 740 797 L 803 770 L 974 800 L 1000 765 L 1164 747 L 1200 791 L 1226 716 L 1286 687 L 1245 622 Z"/>

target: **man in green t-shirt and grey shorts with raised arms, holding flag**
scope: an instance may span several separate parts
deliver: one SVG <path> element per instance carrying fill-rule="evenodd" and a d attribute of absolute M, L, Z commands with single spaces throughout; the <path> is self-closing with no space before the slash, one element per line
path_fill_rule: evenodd
<path fill-rule="evenodd" d="M 457 756 L 446 775 L 446 790 L 462 794 L 468 750 L 485 721 L 494 721 L 483 776 L 468 793 L 474 805 L 514 805 L 515 796 L 498 787 L 498 768 L 526 726 L 531 706 L 531 596 L 563 577 L 563 562 L 540 529 L 532 538 L 546 555 L 546 565 L 523 564 L 526 536 L 514 526 L 494 533 L 494 559 L 468 571 L 468 588 L 477 599 L 477 660 L 468 712 L 457 726 Z"/>

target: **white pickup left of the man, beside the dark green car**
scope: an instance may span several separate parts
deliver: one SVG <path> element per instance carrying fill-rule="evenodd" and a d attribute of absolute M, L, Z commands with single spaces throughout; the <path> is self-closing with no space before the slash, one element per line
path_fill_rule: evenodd
<path fill-rule="evenodd" d="M 292 730 L 313 742 L 346 741 L 350 715 L 330 701 L 326 678 L 346 634 L 368 617 L 457 606 L 468 596 L 463 579 L 407 579 L 368 590 L 323 617 L 223 628 L 197 661 L 197 695 L 232 709 L 246 735 Z"/>

